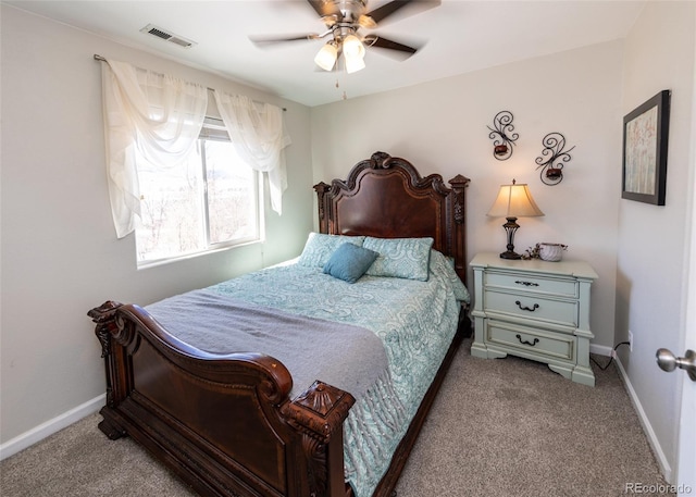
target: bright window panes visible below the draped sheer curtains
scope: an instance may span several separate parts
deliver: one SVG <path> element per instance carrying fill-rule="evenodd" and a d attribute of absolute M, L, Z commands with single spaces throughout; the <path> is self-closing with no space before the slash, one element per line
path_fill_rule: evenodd
<path fill-rule="evenodd" d="M 235 153 L 222 123 L 207 119 L 189 157 L 169 170 L 138 159 L 138 265 L 146 266 L 263 236 L 259 173 Z"/>

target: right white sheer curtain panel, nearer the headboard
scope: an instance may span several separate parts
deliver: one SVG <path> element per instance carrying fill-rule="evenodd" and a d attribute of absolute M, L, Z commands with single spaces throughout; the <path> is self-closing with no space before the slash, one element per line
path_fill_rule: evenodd
<path fill-rule="evenodd" d="M 214 91 L 217 109 L 239 158 L 256 171 L 269 175 L 271 207 L 283 212 L 283 191 L 287 188 L 283 149 L 290 138 L 283 128 L 283 110 L 250 98 Z"/>

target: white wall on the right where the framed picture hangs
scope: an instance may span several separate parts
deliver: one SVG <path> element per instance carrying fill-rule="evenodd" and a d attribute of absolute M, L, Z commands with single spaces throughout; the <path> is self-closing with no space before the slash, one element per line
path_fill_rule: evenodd
<path fill-rule="evenodd" d="M 619 204 L 617 340 L 633 333 L 633 351 L 620 359 L 652 432 L 669 479 L 676 465 L 679 382 L 655 363 L 666 347 L 681 353 L 685 326 L 688 206 L 694 195 L 689 147 L 694 140 L 696 3 L 649 2 L 625 45 L 622 113 L 671 89 L 667 202 Z"/>

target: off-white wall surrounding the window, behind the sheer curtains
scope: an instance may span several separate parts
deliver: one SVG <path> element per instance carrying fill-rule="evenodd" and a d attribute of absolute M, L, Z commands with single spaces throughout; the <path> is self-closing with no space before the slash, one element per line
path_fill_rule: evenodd
<path fill-rule="evenodd" d="M 312 228 L 309 110 L 2 5 L 2 436 L 7 443 L 104 392 L 86 312 L 147 305 L 297 256 Z M 98 53 L 287 108 L 284 213 L 268 241 L 136 270 L 111 222 Z"/>

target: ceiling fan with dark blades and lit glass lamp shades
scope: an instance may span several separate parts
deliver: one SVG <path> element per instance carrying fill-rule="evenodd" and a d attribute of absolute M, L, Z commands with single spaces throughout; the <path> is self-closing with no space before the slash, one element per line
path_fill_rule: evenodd
<path fill-rule="evenodd" d="M 283 41 L 315 40 L 330 37 L 314 58 L 314 63 L 324 71 L 334 71 L 343 55 L 347 73 L 364 69 L 365 47 L 391 50 L 408 59 L 418 51 L 417 48 L 399 44 L 377 34 L 362 35 L 361 28 L 374 29 L 377 24 L 396 12 L 403 12 L 405 7 L 420 7 L 421 10 L 439 5 L 439 0 L 393 0 L 369 11 L 368 0 L 307 0 L 326 26 L 323 33 L 306 35 L 260 38 L 250 37 L 251 41 L 263 46 Z"/>

